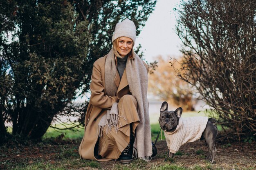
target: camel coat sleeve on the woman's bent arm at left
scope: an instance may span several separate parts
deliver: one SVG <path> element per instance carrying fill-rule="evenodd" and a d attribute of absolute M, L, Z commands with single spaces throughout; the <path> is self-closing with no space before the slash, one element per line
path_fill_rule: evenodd
<path fill-rule="evenodd" d="M 108 96 L 104 93 L 103 80 L 99 64 L 94 64 L 92 68 L 92 82 L 90 84 L 90 102 L 98 108 L 110 109 L 113 103 L 118 102 L 117 96 Z"/>

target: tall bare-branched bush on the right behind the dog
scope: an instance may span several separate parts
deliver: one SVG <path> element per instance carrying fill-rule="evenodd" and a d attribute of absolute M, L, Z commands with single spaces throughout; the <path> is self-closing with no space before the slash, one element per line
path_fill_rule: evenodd
<path fill-rule="evenodd" d="M 214 108 L 229 135 L 255 135 L 256 1 L 188 0 L 178 15 L 178 77 Z"/>

